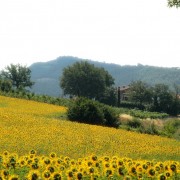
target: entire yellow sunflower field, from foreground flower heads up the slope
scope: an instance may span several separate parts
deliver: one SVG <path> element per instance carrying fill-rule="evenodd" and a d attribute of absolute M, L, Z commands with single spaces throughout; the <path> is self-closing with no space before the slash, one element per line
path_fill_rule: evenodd
<path fill-rule="evenodd" d="M 64 119 L 0 96 L 0 179 L 179 179 L 180 142 Z"/>

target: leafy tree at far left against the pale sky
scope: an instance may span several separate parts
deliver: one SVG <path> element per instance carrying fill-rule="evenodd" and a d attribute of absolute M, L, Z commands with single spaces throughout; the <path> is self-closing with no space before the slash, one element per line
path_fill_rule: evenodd
<path fill-rule="evenodd" d="M 1 72 L 1 76 L 12 82 L 12 86 L 18 90 L 25 89 L 25 87 L 32 87 L 34 82 L 31 81 L 31 70 L 26 66 L 20 64 L 11 64 Z"/>

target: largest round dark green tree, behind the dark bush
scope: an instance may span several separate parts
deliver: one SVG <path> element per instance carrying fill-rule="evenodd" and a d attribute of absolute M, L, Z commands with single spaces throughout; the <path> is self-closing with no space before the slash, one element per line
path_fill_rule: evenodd
<path fill-rule="evenodd" d="M 76 62 L 64 68 L 60 86 L 64 94 L 100 100 L 106 89 L 114 84 L 113 77 L 103 68 L 87 61 Z"/>

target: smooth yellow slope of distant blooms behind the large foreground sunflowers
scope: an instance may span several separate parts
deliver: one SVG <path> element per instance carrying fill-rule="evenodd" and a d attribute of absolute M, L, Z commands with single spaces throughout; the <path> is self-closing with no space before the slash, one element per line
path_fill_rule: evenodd
<path fill-rule="evenodd" d="M 4 156 L 7 151 L 24 156 L 33 149 L 39 157 L 54 152 L 58 157 L 85 161 L 92 154 L 137 161 L 180 161 L 179 141 L 70 122 L 64 120 L 65 113 L 65 107 L 0 96 L 0 154 Z"/>

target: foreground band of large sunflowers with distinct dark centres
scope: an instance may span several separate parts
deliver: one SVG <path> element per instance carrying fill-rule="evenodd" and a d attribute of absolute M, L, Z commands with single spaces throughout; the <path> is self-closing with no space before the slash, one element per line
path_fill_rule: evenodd
<path fill-rule="evenodd" d="M 36 151 L 18 156 L 4 151 L 0 155 L 0 179 L 178 179 L 180 163 L 132 160 L 118 156 L 91 155 L 77 160 L 56 153 L 38 156 Z"/>

